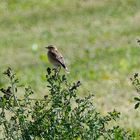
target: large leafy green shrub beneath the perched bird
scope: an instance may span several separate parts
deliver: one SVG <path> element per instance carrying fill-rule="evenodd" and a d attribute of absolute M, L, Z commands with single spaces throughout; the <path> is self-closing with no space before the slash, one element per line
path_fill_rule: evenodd
<path fill-rule="evenodd" d="M 1 88 L 0 125 L 6 140 L 129 140 L 133 136 L 120 126 L 110 126 L 119 118 L 117 111 L 102 116 L 93 104 L 93 95 L 80 98 L 80 81 L 68 83 L 65 75 L 47 69 L 49 94 L 32 99 L 31 87 L 23 99 L 17 98 L 19 81 L 8 68 L 4 74 L 10 85 Z M 40 95 L 41 96 L 41 95 Z M 110 126 L 110 127 L 109 127 Z"/>

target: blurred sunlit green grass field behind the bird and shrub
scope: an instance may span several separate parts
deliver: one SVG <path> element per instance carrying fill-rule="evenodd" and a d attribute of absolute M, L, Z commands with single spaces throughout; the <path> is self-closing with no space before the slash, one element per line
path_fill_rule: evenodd
<path fill-rule="evenodd" d="M 130 81 L 140 71 L 139 34 L 139 0 L 1 0 L 0 87 L 9 66 L 37 98 L 46 94 L 52 66 L 44 47 L 54 44 L 66 59 L 68 80 L 82 82 L 79 96 L 94 93 L 102 114 L 116 109 L 119 124 L 139 132 Z"/>

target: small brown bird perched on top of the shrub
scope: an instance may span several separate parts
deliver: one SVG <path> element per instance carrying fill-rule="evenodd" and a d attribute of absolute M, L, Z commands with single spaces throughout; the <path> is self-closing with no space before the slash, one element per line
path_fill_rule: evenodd
<path fill-rule="evenodd" d="M 65 65 L 64 58 L 62 54 L 57 50 L 57 48 L 53 45 L 49 45 L 45 48 L 48 49 L 48 59 L 55 66 L 55 69 L 58 69 L 58 67 L 61 68 L 62 66 L 68 72 L 68 68 Z"/>

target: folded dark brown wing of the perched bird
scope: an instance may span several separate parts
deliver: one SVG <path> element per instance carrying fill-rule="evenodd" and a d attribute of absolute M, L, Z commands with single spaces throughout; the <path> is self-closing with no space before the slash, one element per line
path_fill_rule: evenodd
<path fill-rule="evenodd" d="M 53 50 L 52 55 L 54 59 L 62 65 L 62 67 L 66 68 L 65 61 L 61 53 L 59 53 L 57 50 Z"/>

